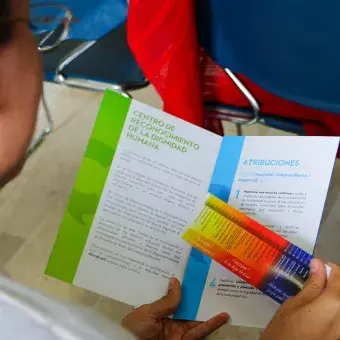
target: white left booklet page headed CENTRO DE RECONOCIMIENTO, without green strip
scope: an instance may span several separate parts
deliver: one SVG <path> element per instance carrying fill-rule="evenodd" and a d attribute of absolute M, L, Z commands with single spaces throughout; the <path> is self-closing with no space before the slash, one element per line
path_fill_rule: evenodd
<path fill-rule="evenodd" d="M 135 140 L 134 127 L 153 135 L 148 116 L 192 141 L 181 143 L 187 152 Z M 132 101 L 74 284 L 140 305 L 162 296 L 171 275 L 181 280 L 190 247 L 180 235 L 204 201 L 221 140 Z"/>

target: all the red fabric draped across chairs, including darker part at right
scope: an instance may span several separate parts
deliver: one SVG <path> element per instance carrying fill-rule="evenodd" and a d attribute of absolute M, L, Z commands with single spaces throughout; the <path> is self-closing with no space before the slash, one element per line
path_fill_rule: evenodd
<path fill-rule="evenodd" d="M 204 121 L 203 100 L 235 106 L 248 102 L 221 68 L 200 56 L 194 5 L 194 0 L 130 0 L 128 40 L 165 111 L 221 134 L 220 123 Z M 308 135 L 340 136 L 340 115 L 284 100 L 238 76 L 263 114 L 301 119 Z"/>

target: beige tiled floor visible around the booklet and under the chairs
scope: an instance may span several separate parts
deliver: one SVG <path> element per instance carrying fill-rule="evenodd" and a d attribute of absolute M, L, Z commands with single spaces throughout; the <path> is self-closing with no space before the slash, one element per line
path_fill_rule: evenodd
<path fill-rule="evenodd" d="M 0 192 L 0 267 L 4 266 L 21 283 L 87 305 L 119 321 L 130 310 L 129 306 L 43 274 L 102 96 L 51 84 L 45 89 L 56 129 L 29 159 L 22 174 Z M 134 97 L 161 106 L 151 88 L 135 92 Z M 41 118 L 38 130 L 43 124 Z M 226 131 L 235 133 L 233 126 L 226 126 Z M 244 132 L 282 134 L 262 126 L 248 127 Z M 316 252 L 326 260 L 340 263 L 339 190 L 340 162 L 337 162 Z M 258 336 L 258 330 L 225 327 L 213 338 L 252 340 Z"/>

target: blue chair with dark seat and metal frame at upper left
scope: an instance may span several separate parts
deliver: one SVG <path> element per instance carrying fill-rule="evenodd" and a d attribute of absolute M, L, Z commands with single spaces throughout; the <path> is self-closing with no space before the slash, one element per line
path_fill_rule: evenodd
<path fill-rule="evenodd" d="M 31 1 L 31 28 L 42 52 L 45 80 L 93 91 L 128 91 L 148 85 L 126 37 L 127 0 Z M 46 101 L 48 127 L 53 128 Z"/>

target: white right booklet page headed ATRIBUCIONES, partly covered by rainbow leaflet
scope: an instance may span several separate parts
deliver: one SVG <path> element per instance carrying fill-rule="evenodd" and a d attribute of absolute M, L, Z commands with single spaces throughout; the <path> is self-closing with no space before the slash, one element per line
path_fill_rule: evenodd
<path fill-rule="evenodd" d="M 246 137 L 229 203 L 312 253 L 338 142 L 321 137 Z M 261 160 L 288 160 L 291 165 L 255 165 Z M 232 325 L 265 327 L 278 306 L 213 262 L 197 319 L 228 312 Z"/>

